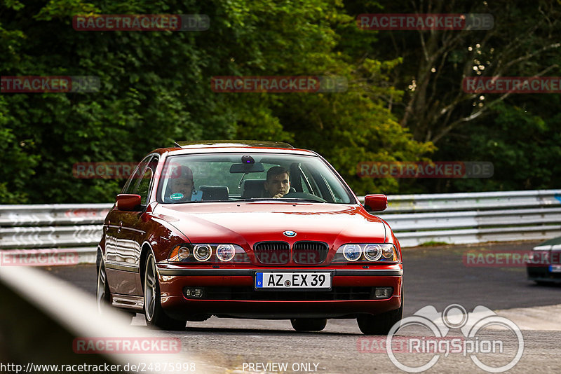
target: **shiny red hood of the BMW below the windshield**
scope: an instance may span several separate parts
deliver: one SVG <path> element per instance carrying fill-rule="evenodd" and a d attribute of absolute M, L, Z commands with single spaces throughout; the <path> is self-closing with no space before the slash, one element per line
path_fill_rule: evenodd
<path fill-rule="evenodd" d="M 153 214 L 190 242 L 248 244 L 317 240 L 330 244 L 384 242 L 386 227 L 359 205 L 288 202 L 216 202 L 158 205 Z M 283 235 L 294 231 L 295 237 Z"/>

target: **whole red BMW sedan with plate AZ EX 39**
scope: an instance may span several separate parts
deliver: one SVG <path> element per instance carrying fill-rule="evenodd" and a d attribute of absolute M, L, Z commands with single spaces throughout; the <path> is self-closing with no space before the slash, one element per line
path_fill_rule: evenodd
<path fill-rule="evenodd" d="M 361 205 L 313 151 L 265 141 L 182 142 L 149 153 L 104 221 L 97 301 L 184 329 L 210 316 L 356 318 L 385 334 L 403 314 L 400 244 L 385 195 Z"/>

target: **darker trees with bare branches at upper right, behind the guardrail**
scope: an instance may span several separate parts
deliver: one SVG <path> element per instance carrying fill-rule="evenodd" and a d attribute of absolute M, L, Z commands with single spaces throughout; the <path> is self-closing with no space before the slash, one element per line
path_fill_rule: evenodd
<path fill-rule="evenodd" d="M 387 101 L 414 139 L 438 147 L 433 160 L 494 163 L 491 179 L 400 181 L 400 191 L 559 187 L 553 172 L 558 170 L 559 94 L 481 95 L 461 88 L 468 76 L 559 76 L 559 4 L 429 0 L 381 5 L 346 0 L 345 8 L 355 17 L 361 13 L 489 13 L 494 17 L 489 30 L 368 31 L 370 42 L 357 48 L 365 58 L 402 59 L 388 71 L 388 83 L 403 90 L 403 100 L 391 102 L 388 97 Z"/>

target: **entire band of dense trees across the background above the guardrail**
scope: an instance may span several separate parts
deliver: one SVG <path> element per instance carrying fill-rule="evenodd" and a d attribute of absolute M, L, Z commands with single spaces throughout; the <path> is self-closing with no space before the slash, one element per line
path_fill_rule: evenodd
<path fill-rule="evenodd" d="M 485 60 L 486 75 L 559 76 L 558 6 L 429 1 L 421 3 L 428 8 L 416 8 L 416 3 L 3 1 L 2 76 L 98 76 L 101 89 L 0 95 L 0 203 L 109 202 L 123 181 L 76 179 L 75 162 L 135 162 L 151 149 L 186 139 L 262 139 L 311 148 L 357 194 L 559 187 L 558 94 L 480 99 L 461 91 L 461 78 L 473 73 L 477 59 Z M 356 27 L 360 13 L 415 12 L 492 13 L 495 27 L 487 32 Z M 144 13 L 203 13 L 210 29 L 72 28 L 78 14 Z M 344 76 L 349 89 L 271 94 L 210 87 L 212 76 L 275 75 Z M 417 89 L 410 88 L 412 81 Z M 443 109 L 445 116 L 439 115 Z M 473 116 L 477 111 L 481 115 Z M 491 161 L 495 176 L 453 181 L 356 176 L 361 161 L 428 159 Z"/>

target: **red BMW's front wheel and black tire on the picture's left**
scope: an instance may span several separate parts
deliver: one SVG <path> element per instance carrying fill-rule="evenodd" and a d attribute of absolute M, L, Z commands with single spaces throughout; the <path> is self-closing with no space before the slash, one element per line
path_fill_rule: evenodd
<path fill-rule="evenodd" d="M 154 255 L 149 254 L 144 268 L 144 317 L 147 326 L 163 330 L 184 330 L 187 321 L 173 319 L 165 314 L 161 305 L 160 282 Z"/>

